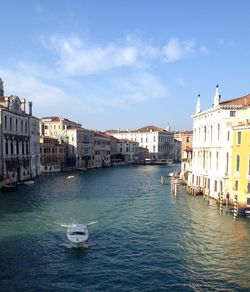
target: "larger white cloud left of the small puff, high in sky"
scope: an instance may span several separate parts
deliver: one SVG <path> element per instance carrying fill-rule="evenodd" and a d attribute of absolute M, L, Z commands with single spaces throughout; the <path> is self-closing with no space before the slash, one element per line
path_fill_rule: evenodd
<path fill-rule="evenodd" d="M 133 46 L 84 44 L 78 37 L 52 37 L 52 47 L 59 53 L 58 70 L 67 75 L 95 74 L 136 62 L 138 51 Z"/>

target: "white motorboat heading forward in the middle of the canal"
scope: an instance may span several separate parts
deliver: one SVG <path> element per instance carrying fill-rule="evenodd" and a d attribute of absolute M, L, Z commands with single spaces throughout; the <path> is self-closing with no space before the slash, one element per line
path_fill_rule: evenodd
<path fill-rule="evenodd" d="M 71 224 L 67 229 L 68 240 L 77 247 L 84 245 L 89 239 L 89 231 L 84 224 Z"/>

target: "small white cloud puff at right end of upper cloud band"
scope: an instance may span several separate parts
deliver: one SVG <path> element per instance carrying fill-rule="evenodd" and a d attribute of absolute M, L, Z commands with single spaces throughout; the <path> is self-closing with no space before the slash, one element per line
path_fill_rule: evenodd
<path fill-rule="evenodd" d="M 193 40 L 180 41 L 177 38 L 171 38 L 163 47 L 164 60 L 168 63 L 178 61 L 187 55 L 197 53 L 207 53 L 205 46 L 198 47 Z"/>

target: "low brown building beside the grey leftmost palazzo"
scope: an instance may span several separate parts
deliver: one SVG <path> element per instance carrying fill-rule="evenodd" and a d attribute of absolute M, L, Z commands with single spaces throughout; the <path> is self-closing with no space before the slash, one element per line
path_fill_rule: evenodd
<path fill-rule="evenodd" d="M 56 138 L 40 137 L 41 171 L 60 172 L 66 164 L 66 144 Z"/>

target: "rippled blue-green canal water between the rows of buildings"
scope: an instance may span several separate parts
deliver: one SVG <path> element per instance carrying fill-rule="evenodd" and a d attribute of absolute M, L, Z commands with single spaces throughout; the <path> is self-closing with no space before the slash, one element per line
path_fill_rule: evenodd
<path fill-rule="evenodd" d="M 249 291 L 250 220 L 131 166 L 0 192 L 0 291 Z M 167 178 L 169 182 L 169 178 Z M 91 223 L 86 249 L 61 224 Z"/>

